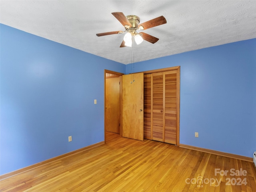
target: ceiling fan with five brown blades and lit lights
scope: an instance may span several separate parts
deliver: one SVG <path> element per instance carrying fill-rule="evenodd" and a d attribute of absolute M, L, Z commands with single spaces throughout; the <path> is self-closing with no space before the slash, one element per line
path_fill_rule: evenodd
<path fill-rule="evenodd" d="M 128 15 L 125 16 L 122 12 L 113 12 L 112 15 L 114 15 L 117 20 L 124 26 L 124 31 L 112 31 L 112 32 L 105 32 L 105 33 L 98 33 L 97 36 L 104 36 L 104 35 L 112 35 L 112 34 L 121 34 L 125 33 L 124 40 L 121 43 L 120 47 L 125 46 L 132 46 L 132 37 L 134 37 L 134 40 L 136 44 L 140 44 L 143 40 L 146 40 L 150 43 L 155 43 L 159 39 L 146 34 L 144 32 L 138 33 L 137 30 L 146 30 L 148 28 L 152 28 L 158 25 L 166 24 L 166 19 L 164 16 L 160 16 L 157 18 L 154 18 L 152 20 L 146 21 L 142 24 L 140 23 L 140 18 L 136 15 Z"/>

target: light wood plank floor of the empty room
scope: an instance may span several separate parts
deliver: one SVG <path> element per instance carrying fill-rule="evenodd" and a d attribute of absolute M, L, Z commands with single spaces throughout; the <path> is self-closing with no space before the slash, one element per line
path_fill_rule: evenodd
<path fill-rule="evenodd" d="M 101 146 L 2 179 L 1 192 L 256 192 L 252 162 L 113 133 L 106 138 Z"/>

